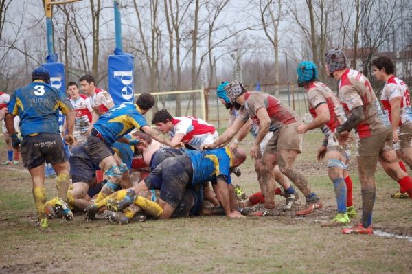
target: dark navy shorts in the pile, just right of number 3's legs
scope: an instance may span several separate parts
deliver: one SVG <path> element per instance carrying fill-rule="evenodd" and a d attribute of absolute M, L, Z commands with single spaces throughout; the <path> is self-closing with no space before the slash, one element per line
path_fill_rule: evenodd
<path fill-rule="evenodd" d="M 99 168 L 91 161 L 84 144 L 71 148 L 69 163 L 71 182 L 87 183 L 91 187 L 91 181 L 96 176 L 96 170 Z"/>

